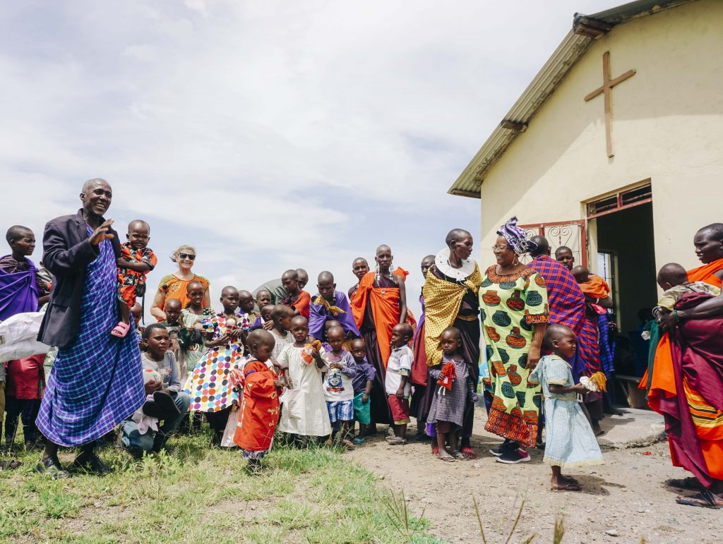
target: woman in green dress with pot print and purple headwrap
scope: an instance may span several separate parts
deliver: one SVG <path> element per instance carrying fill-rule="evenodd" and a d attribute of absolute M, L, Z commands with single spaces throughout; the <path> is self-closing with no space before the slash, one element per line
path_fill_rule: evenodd
<path fill-rule="evenodd" d="M 492 393 L 484 428 L 505 438 L 489 452 L 513 465 L 530 460 L 524 448 L 534 446 L 537 436 L 540 388 L 528 384 L 527 376 L 539 361 L 549 311 L 542 276 L 519 261 L 532 248 L 517 218 L 497 234 L 492 246 L 497 264 L 487 269 L 479 288 L 489 369 L 485 385 Z"/>

